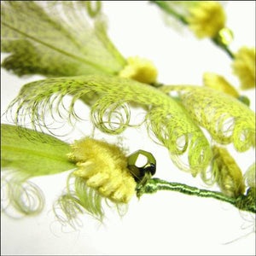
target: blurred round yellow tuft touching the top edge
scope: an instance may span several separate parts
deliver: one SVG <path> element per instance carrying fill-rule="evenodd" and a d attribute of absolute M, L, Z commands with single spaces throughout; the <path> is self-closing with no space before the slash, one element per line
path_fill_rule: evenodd
<path fill-rule="evenodd" d="M 189 9 L 187 21 L 197 38 L 215 38 L 225 24 L 224 9 L 218 2 L 201 1 Z"/>

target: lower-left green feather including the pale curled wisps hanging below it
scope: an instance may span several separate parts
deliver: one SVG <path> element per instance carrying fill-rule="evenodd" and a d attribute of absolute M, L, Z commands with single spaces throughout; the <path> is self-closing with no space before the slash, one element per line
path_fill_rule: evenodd
<path fill-rule="evenodd" d="M 26 131 L 26 132 L 20 132 Z M 69 145 L 38 131 L 1 125 L 1 211 L 9 216 L 38 214 L 44 195 L 27 180 L 76 168 L 67 159 Z M 11 209 L 15 210 L 15 216 Z"/>

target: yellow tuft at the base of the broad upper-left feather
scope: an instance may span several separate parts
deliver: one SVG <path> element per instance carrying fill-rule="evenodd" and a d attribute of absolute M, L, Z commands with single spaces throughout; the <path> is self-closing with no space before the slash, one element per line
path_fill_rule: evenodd
<path fill-rule="evenodd" d="M 120 71 L 119 77 L 133 79 L 144 84 L 152 84 L 156 81 L 157 70 L 152 61 L 139 57 L 129 57 L 127 65 Z"/>

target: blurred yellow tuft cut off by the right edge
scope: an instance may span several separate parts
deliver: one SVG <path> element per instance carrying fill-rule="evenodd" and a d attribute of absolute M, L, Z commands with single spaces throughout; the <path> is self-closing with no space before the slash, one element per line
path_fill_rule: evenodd
<path fill-rule="evenodd" d="M 241 47 L 235 54 L 233 72 L 241 81 L 241 89 L 255 87 L 255 48 Z"/>

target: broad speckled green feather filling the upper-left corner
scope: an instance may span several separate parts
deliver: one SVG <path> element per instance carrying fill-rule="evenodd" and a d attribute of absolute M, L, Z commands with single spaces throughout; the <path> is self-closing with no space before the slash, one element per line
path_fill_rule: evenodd
<path fill-rule="evenodd" d="M 102 15 L 90 20 L 84 1 L 3 1 L 2 67 L 22 76 L 119 73 L 125 59 L 106 32 Z"/>

